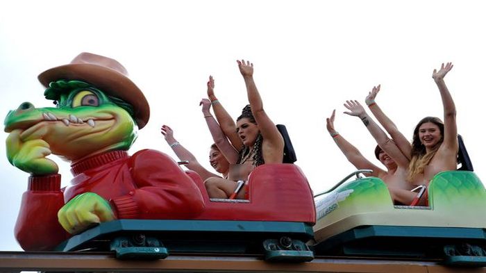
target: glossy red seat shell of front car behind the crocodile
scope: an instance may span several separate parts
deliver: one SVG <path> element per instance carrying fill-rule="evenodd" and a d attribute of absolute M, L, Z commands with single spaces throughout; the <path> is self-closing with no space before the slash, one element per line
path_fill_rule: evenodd
<path fill-rule="evenodd" d="M 253 169 L 247 200 L 212 201 L 201 176 L 192 170 L 185 173 L 199 188 L 206 207 L 192 219 L 315 223 L 312 190 L 297 165 L 268 163 Z"/>

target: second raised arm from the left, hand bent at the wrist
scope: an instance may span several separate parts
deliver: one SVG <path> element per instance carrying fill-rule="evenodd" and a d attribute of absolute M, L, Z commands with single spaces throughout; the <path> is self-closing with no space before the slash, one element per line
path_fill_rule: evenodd
<path fill-rule="evenodd" d="M 216 119 L 212 117 L 210 113 L 211 101 L 209 101 L 209 99 L 201 99 L 199 105 L 203 106 L 201 110 L 203 111 L 204 119 L 206 119 L 206 124 L 208 124 L 212 140 L 215 141 L 219 151 L 221 151 L 221 154 L 223 154 L 226 160 L 228 160 L 230 164 L 235 164 L 239 157 L 238 151 L 236 151 L 235 147 L 228 141 L 228 138 L 224 135 Z"/>

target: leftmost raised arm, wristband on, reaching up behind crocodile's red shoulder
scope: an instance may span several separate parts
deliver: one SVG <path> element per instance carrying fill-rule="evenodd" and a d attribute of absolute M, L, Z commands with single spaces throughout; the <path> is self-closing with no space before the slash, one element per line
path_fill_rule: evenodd
<path fill-rule="evenodd" d="M 169 126 L 162 125 L 162 128 L 160 128 L 160 133 L 164 135 L 165 141 L 167 141 L 167 144 L 169 144 L 169 147 L 171 147 L 172 151 L 174 151 L 179 160 L 189 161 L 189 163 L 186 165 L 187 169 L 197 172 L 203 181 L 213 176 L 220 177 L 219 175 L 213 174 L 201 166 L 201 164 L 196 160 L 196 157 L 194 157 L 190 151 L 185 149 L 185 147 L 183 147 L 183 145 L 174 138 L 174 131 L 172 131 Z"/>

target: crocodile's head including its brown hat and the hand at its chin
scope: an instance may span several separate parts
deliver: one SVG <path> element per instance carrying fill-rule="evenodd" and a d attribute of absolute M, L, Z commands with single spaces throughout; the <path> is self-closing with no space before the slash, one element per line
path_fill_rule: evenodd
<path fill-rule="evenodd" d="M 112 58 L 83 52 L 68 65 L 39 75 L 56 107 L 24 102 L 5 119 L 7 157 L 31 174 L 52 174 L 56 154 L 73 163 L 107 151 L 126 150 L 149 121 L 142 91 Z"/>

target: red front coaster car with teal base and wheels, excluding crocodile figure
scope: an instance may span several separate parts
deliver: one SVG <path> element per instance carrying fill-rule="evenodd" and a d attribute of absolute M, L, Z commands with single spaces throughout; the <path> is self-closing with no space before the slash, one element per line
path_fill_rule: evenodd
<path fill-rule="evenodd" d="M 265 260 L 307 261 L 315 205 L 285 126 L 287 164 L 265 164 L 249 176 L 249 199 L 209 199 L 201 177 L 186 174 L 206 208 L 187 220 L 115 220 L 62 242 L 58 251 L 115 251 L 117 258 L 165 258 L 169 253 L 255 254 Z M 175 208 L 176 209 L 176 208 Z"/>

